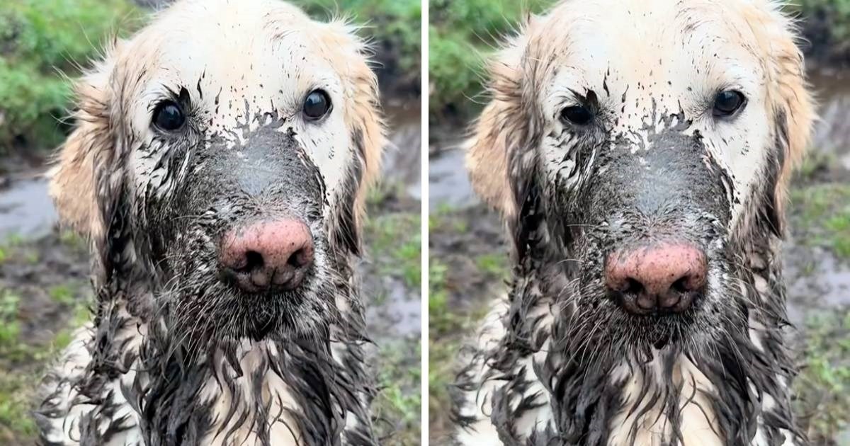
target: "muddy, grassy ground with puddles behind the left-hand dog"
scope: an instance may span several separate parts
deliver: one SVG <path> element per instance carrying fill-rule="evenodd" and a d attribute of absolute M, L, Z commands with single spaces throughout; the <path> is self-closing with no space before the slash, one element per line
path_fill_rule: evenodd
<path fill-rule="evenodd" d="M 361 296 L 385 444 L 420 443 L 420 102 L 385 104 L 392 132 L 384 178 L 368 200 Z M 42 152 L 43 153 L 43 152 Z M 88 249 L 56 227 L 42 158 L 0 160 L 0 444 L 33 443 L 33 389 L 89 319 Z"/>

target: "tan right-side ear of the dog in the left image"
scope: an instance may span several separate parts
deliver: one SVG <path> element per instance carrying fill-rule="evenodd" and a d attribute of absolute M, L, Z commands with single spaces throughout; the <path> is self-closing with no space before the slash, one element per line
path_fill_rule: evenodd
<path fill-rule="evenodd" d="M 353 203 L 343 203 L 337 239 L 349 251 L 360 252 L 360 228 L 369 188 L 381 171 L 381 155 L 387 144 L 377 76 L 370 67 L 371 49 L 357 36 L 357 28 L 344 20 L 331 20 L 320 33 L 324 51 L 345 85 L 345 125 L 351 135 L 359 165 L 349 168 Z"/>

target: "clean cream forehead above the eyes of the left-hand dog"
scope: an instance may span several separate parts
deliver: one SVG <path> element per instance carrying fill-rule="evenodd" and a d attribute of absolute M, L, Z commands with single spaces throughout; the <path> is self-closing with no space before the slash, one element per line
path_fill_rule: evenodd
<path fill-rule="evenodd" d="M 297 74 L 294 66 L 329 68 L 319 48 L 323 25 L 282 2 L 185 1 L 159 15 L 132 45 L 155 54 L 152 62 L 164 71 L 183 77 L 212 71 L 218 82 L 239 83 L 250 71 L 282 77 Z"/>

